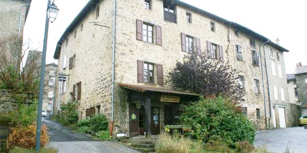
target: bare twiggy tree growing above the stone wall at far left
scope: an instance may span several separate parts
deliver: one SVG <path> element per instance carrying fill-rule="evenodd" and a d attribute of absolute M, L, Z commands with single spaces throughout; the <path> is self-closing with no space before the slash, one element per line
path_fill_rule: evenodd
<path fill-rule="evenodd" d="M 38 78 L 34 70 L 40 67 L 36 61 L 41 57 L 30 56 L 23 64 L 29 48 L 21 38 L 13 34 L 0 38 L 0 88 L 35 91 Z"/>

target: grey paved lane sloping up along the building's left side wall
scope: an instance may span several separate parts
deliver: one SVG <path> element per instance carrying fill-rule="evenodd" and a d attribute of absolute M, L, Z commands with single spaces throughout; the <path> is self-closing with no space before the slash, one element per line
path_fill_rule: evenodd
<path fill-rule="evenodd" d="M 48 126 L 48 147 L 58 150 L 58 153 L 139 153 L 120 143 L 112 141 L 94 141 L 92 137 L 74 133 L 68 127 L 61 125 L 48 117 L 42 118 L 42 124 Z"/>

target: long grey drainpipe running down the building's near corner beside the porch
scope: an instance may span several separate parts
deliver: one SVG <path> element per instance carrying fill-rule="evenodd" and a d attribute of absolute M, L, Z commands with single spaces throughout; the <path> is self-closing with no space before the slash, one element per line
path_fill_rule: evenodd
<path fill-rule="evenodd" d="M 112 44 L 112 96 L 111 96 L 111 129 L 110 129 L 110 136 L 112 136 L 113 132 L 113 122 L 114 122 L 114 87 L 115 87 L 115 81 L 114 81 L 114 74 L 115 74 L 115 34 L 116 34 L 116 0 L 114 0 L 113 5 L 113 44 Z"/>

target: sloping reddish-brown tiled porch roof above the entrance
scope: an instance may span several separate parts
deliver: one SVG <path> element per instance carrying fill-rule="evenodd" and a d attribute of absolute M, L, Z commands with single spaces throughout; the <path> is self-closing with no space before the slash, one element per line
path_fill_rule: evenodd
<path fill-rule="evenodd" d="M 158 88 L 158 87 L 150 87 L 150 86 L 142 86 L 142 85 L 130 85 L 130 84 L 123 84 L 118 83 L 120 87 L 136 90 L 139 92 L 161 92 L 161 93 L 172 93 L 172 94 L 181 94 L 181 95 L 192 95 L 192 96 L 200 96 L 200 94 L 186 92 L 186 91 L 178 91 L 173 89 L 167 89 L 167 88 Z"/>

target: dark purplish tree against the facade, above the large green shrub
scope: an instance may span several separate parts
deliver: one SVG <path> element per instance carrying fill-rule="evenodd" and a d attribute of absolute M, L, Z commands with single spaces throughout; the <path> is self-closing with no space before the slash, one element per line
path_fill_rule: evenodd
<path fill-rule="evenodd" d="M 190 52 L 169 72 L 174 89 L 199 93 L 204 97 L 227 95 L 235 101 L 243 100 L 237 82 L 238 75 L 227 62 L 213 60 L 204 53 Z"/>

